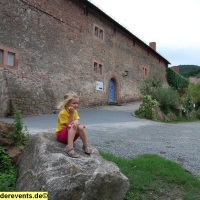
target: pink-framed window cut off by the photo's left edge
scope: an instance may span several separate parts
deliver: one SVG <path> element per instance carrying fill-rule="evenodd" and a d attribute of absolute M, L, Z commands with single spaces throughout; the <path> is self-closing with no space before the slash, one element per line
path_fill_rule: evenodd
<path fill-rule="evenodd" d="M 0 67 L 18 69 L 18 56 L 18 51 L 0 45 Z"/>

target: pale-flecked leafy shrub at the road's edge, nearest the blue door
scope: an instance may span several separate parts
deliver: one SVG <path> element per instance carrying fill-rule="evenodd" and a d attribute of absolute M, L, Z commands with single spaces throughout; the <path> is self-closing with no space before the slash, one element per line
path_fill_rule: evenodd
<path fill-rule="evenodd" d="M 145 95 L 142 98 L 142 103 L 140 104 L 139 109 L 135 112 L 138 117 L 144 117 L 147 119 L 157 120 L 155 106 L 158 106 L 159 103 L 151 98 L 150 95 Z"/>

